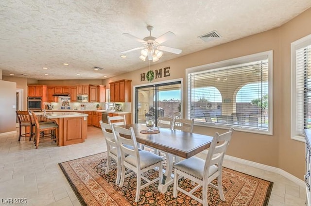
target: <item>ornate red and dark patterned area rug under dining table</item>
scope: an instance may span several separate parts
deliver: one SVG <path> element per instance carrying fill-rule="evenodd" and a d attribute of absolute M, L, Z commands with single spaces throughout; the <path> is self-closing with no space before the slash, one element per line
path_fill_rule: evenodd
<path fill-rule="evenodd" d="M 111 161 L 114 161 L 113 159 Z M 193 206 L 201 205 L 189 196 L 178 192 L 173 197 L 173 185 L 162 194 L 157 190 L 158 183 L 140 190 L 139 201 L 135 202 L 136 175 L 125 178 L 124 186 L 115 185 L 116 165 L 105 175 L 107 153 L 94 154 L 83 158 L 59 163 L 72 189 L 83 206 Z M 147 175 L 155 178 L 157 171 Z M 214 180 L 216 181 L 216 180 Z M 143 181 L 142 181 L 143 183 Z M 179 185 L 191 189 L 187 179 L 181 178 Z M 209 206 L 267 206 L 273 183 L 223 168 L 223 190 L 225 202 L 219 198 L 218 190 L 208 187 Z M 201 187 L 202 188 L 202 187 Z M 196 194 L 201 197 L 201 191 Z"/>

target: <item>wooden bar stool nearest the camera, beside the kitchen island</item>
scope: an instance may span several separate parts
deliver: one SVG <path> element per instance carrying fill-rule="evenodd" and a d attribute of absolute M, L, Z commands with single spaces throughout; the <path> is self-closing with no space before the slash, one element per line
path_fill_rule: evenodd
<path fill-rule="evenodd" d="M 54 122 L 48 122 L 45 124 L 40 124 L 35 113 L 32 112 L 31 113 L 34 120 L 35 120 L 35 149 L 38 149 L 39 146 L 39 141 L 40 141 L 40 133 L 47 131 L 47 130 L 51 130 L 51 137 L 55 137 L 56 139 L 56 144 L 58 145 L 58 125 Z M 46 137 L 46 136 L 44 136 Z M 49 136 L 50 137 L 50 136 Z"/>

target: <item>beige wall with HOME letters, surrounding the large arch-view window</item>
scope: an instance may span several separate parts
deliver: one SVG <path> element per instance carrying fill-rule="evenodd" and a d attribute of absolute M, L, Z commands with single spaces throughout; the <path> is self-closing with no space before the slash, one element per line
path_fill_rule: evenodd
<path fill-rule="evenodd" d="M 153 83 L 183 78 L 183 102 L 185 102 L 185 69 L 273 50 L 273 135 L 268 136 L 235 131 L 227 154 L 277 167 L 303 179 L 305 173 L 305 145 L 303 142 L 292 140 L 290 136 L 290 43 L 311 34 L 311 27 L 306 26 L 309 25 L 310 19 L 311 9 L 308 9 L 279 28 L 151 66 L 150 69 L 152 70 L 164 67 L 171 68 L 170 77 L 155 79 Z M 139 69 L 104 80 L 103 84 L 109 88 L 109 82 L 120 79 L 132 79 L 132 86 L 146 84 L 147 81 L 140 82 L 140 73 L 147 71 L 148 67 Z M 184 115 L 185 111 L 184 103 Z M 215 132 L 224 132 L 224 130 L 196 126 L 194 132 L 213 135 Z"/>

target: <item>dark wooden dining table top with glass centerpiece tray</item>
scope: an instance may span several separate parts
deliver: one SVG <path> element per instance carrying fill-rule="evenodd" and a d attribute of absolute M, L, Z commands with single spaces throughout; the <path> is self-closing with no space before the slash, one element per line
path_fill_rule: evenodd
<path fill-rule="evenodd" d="M 168 128 L 154 127 L 159 130 L 157 134 L 142 134 L 141 130 L 148 127 L 144 124 L 126 124 L 122 127 L 129 129 L 133 127 L 138 143 L 153 147 L 155 149 L 174 154 L 183 158 L 190 158 L 209 148 L 213 137 L 196 133 L 171 130 Z"/>

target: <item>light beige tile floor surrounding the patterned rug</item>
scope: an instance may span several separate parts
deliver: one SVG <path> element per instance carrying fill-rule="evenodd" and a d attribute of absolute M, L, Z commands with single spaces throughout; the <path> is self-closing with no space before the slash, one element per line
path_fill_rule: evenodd
<path fill-rule="evenodd" d="M 0 206 L 14 205 L 5 203 L 9 198 L 26 198 L 19 206 L 80 206 L 58 163 L 105 151 L 102 130 L 95 127 L 88 127 L 84 143 L 57 147 L 46 139 L 37 150 L 28 139 L 0 136 Z M 305 206 L 305 189 L 279 174 L 227 160 L 224 166 L 274 182 L 269 206 Z"/>

